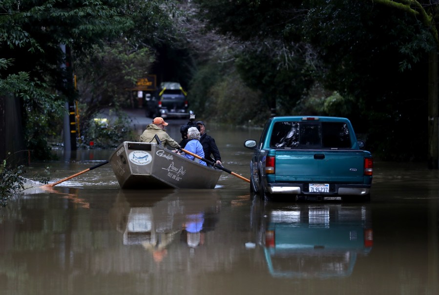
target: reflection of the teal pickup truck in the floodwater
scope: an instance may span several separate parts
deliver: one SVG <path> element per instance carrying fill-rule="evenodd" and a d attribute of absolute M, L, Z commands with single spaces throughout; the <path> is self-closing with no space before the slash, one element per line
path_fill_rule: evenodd
<path fill-rule="evenodd" d="M 265 211 L 259 238 L 271 275 L 350 275 L 357 256 L 367 255 L 373 246 L 368 209 L 337 204 Z"/>

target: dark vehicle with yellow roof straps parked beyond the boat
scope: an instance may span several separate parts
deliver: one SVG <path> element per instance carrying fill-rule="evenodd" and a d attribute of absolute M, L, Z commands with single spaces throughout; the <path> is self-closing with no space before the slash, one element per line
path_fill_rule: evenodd
<path fill-rule="evenodd" d="M 188 94 L 177 82 L 163 82 L 152 97 L 146 98 L 146 116 L 188 117 Z"/>

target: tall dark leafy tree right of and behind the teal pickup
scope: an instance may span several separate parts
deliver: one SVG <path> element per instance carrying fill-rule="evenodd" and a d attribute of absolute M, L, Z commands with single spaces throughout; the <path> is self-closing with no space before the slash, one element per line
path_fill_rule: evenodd
<path fill-rule="evenodd" d="M 324 64 L 318 79 L 361 106 L 351 116 L 368 148 L 385 160 L 425 160 L 429 29 L 372 1 L 335 0 L 310 10 L 304 28 Z"/>

